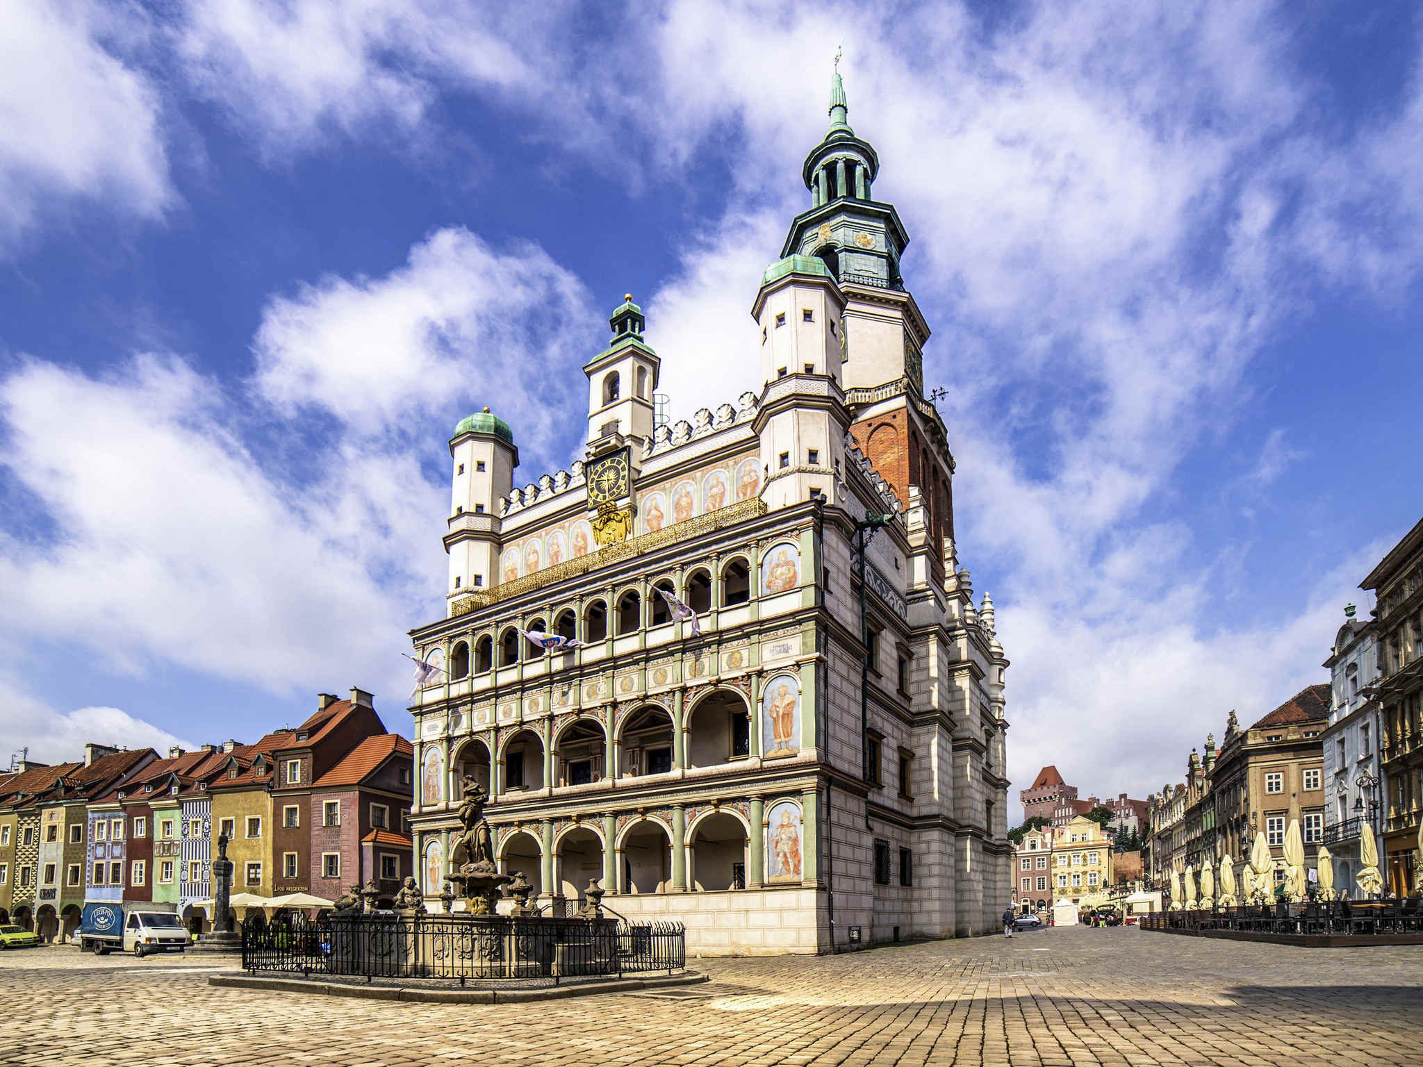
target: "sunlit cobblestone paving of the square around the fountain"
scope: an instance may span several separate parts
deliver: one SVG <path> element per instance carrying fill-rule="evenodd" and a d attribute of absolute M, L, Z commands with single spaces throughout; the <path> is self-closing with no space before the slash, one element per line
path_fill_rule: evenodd
<path fill-rule="evenodd" d="M 683 990 L 511 1006 L 218 989 L 231 963 L 0 953 L 3 1064 L 1423 1064 L 1423 947 L 1047 929 L 703 959 Z"/>

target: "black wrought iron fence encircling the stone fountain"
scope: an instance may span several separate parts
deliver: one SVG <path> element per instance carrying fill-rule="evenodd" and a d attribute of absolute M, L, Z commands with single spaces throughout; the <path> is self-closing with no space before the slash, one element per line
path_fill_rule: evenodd
<path fill-rule="evenodd" d="M 296 913 L 242 929 L 242 966 L 364 979 L 551 979 L 683 970 L 680 923 L 505 915 Z"/>

